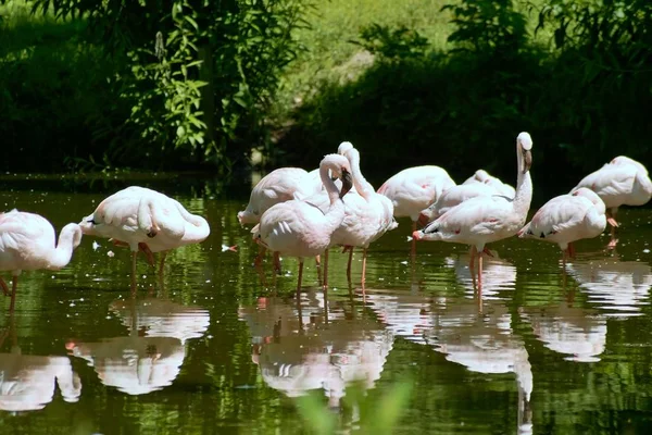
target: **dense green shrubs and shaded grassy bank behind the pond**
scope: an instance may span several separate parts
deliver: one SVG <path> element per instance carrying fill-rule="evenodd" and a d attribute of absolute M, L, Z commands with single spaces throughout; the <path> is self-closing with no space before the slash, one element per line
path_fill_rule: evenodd
<path fill-rule="evenodd" d="M 7 169 L 313 167 L 348 139 L 383 176 L 513 176 L 524 129 L 546 183 L 652 160 L 643 0 L 3 2 Z"/>

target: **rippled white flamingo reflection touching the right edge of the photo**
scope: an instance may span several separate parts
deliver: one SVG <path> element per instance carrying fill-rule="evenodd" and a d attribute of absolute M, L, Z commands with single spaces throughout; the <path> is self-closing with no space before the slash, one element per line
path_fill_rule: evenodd
<path fill-rule="evenodd" d="M 589 301 L 607 316 L 642 315 L 641 306 L 649 304 L 652 270 L 648 263 L 622 261 L 617 252 L 612 257 L 602 253 L 578 256 L 566 271 Z"/>

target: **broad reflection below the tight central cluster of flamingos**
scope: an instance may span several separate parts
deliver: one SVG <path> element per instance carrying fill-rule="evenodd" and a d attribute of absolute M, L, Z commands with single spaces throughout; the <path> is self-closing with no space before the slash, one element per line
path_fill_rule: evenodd
<path fill-rule="evenodd" d="M 239 318 L 252 337 L 252 360 L 265 384 L 288 397 L 322 389 L 338 408 L 344 388 L 373 388 L 392 348 L 393 337 L 353 307 L 329 306 L 321 293 L 302 294 L 298 306 L 260 298 L 242 307 Z"/>

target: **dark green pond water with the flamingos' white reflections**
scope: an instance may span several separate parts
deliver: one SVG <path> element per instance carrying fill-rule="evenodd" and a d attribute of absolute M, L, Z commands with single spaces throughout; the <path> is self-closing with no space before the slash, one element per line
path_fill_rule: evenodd
<path fill-rule="evenodd" d="M 122 187 L 52 183 L 5 184 L 0 208 L 59 229 Z M 369 251 L 364 296 L 360 256 L 350 290 L 334 250 L 328 294 L 310 261 L 298 303 L 293 259 L 276 279 L 267 263 L 266 286 L 252 269 L 246 199 L 150 186 L 206 216 L 210 238 L 168 256 L 162 285 L 141 260 L 135 299 L 128 252 L 104 239 L 60 272 L 24 273 L 0 315 L 0 433 L 285 434 L 319 418 L 377 433 L 392 407 L 394 433 L 648 433 L 650 210 L 622 211 L 614 251 L 606 236 L 579 243 L 566 273 L 554 245 L 493 245 L 481 297 L 465 247 L 421 243 L 411 264 L 401 221 Z M 308 390 L 317 407 L 298 399 Z"/>

